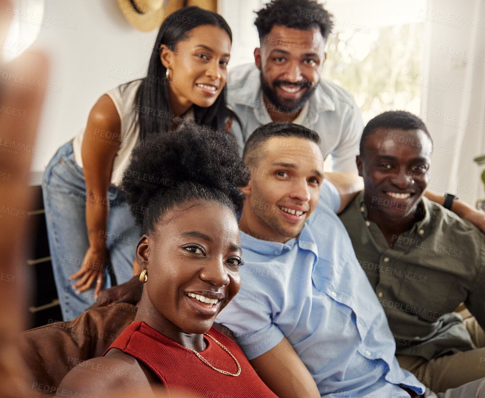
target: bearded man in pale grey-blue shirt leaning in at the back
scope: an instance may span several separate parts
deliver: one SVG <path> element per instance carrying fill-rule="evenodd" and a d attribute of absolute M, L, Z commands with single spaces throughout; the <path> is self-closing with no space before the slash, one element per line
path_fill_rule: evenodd
<path fill-rule="evenodd" d="M 237 115 L 231 132 L 240 147 L 257 127 L 291 122 L 320 135 L 333 171 L 356 172 L 360 110 L 346 90 L 320 77 L 332 15 L 314 0 L 273 0 L 257 15 L 255 63 L 227 77 L 227 106 Z"/>

